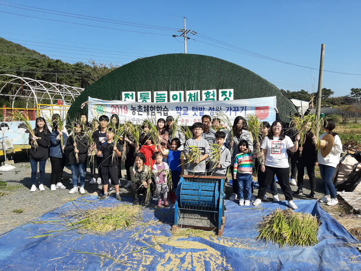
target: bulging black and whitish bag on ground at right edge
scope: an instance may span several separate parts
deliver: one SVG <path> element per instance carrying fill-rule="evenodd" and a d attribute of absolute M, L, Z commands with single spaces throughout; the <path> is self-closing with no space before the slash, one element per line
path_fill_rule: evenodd
<path fill-rule="evenodd" d="M 336 167 L 332 182 L 338 191 L 354 191 L 361 182 L 361 162 L 351 154 L 344 155 Z"/>

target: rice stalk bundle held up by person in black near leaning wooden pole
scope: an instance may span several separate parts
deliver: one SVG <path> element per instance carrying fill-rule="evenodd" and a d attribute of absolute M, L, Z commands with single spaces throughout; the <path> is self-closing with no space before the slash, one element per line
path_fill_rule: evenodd
<path fill-rule="evenodd" d="M 292 130 L 300 135 L 299 146 L 302 147 L 305 141 L 305 135 L 309 131 L 316 135 L 316 127 L 319 125 L 319 122 L 317 122 L 316 114 L 309 114 L 301 117 L 292 116 L 291 124 Z M 300 151 L 300 156 L 302 156 L 302 151 Z"/>

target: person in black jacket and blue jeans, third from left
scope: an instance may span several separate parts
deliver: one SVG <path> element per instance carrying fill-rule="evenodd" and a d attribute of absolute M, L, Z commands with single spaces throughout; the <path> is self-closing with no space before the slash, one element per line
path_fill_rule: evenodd
<path fill-rule="evenodd" d="M 84 181 L 85 181 L 85 164 L 87 163 L 89 140 L 87 135 L 84 134 L 83 123 L 75 122 L 74 124 L 75 135 L 70 135 L 66 143 L 66 151 L 69 155 L 69 163 L 73 179 L 73 188 L 70 189 L 69 194 L 78 192 L 78 174 L 80 179 L 81 194 L 85 194 Z"/>

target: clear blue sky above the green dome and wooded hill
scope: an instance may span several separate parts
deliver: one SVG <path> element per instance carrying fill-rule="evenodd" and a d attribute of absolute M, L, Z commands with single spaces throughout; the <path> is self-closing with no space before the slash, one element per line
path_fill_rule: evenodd
<path fill-rule="evenodd" d="M 0 37 L 69 63 L 123 65 L 183 53 L 182 38 L 172 35 L 185 16 L 198 33 L 188 36 L 187 53 L 233 62 L 279 89 L 316 91 L 325 44 L 324 70 L 333 72 L 324 72 L 322 87 L 341 96 L 361 88 L 360 11 L 360 0 L 7 0 Z"/>

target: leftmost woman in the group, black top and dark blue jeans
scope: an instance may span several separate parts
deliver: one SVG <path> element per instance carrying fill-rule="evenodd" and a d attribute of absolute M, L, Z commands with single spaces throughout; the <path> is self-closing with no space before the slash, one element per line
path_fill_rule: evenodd
<path fill-rule="evenodd" d="M 36 178 L 38 171 L 38 162 L 39 162 L 39 190 L 44 191 L 44 178 L 45 178 L 45 163 L 48 158 L 49 145 L 50 145 L 50 131 L 46 126 L 45 119 L 39 117 L 35 121 L 34 136 L 29 136 L 29 145 L 31 145 L 30 150 L 30 165 L 31 165 L 31 188 L 30 192 L 37 190 L 36 187 Z M 36 142 L 36 143 L 35 143 Z"/>

